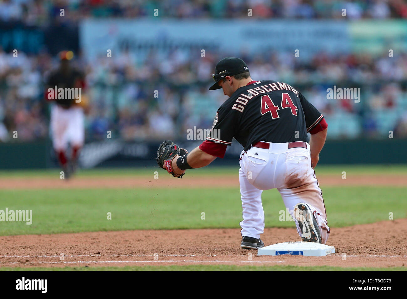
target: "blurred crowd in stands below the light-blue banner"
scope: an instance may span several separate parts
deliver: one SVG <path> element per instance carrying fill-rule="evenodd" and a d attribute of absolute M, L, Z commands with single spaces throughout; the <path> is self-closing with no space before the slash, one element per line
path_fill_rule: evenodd
<path fill-rule="evenodd" d="M 144 64 L 131 55 L 103 58 L 85 65 L 91 109 L 86 121 L 88 140 L 106 137 L 108 130 L 126 140 L 185 136 L 188 128 L 210 128 L 217 107 L 226 100 L 210 92 L 214 64 L 225 53 L 196 55 L 172 52 L 166 59 L 152 52 Z M 253 79 L 276 79 L 298 88 L 324 115 L 331 138 L 407 136 L 407 53 L 389 58 L 367 54 L 341 57 L 319 53 L 300 63 L 292 53 L 264 57 L 241 56 Z M 0 51 L 0 138 L 13 131 L 18 140 L 48 134 L 48 104 L 44 81 L 56 58 L 42 53 L 19 59 Z M 327 88 L 361 88 L 361 101 L 327 99 Z M 155 91 L 158 97 L 154 97 Z M 116 135 L 116 136 L 118 136 Z"/>

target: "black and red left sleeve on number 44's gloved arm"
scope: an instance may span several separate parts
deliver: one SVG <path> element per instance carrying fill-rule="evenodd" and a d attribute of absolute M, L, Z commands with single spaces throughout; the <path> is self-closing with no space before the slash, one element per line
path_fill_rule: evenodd
<path fill-rule="evenodd" d="M 216 157 L 223 158 L 228 145 L 232 144 L 235 129 L 237 127 L 238 115 L 236 111 L 221 107 L 218 109 L 206 140 L 199 148 Z"/>

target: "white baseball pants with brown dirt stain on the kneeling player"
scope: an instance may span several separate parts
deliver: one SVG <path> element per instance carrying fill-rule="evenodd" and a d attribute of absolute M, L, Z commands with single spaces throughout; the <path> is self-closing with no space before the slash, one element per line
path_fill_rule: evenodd
<path fill-rule="evenodd" d="M 268 142 L 267 142 L 268 143 Z M 264 231 L 264 212 L 261 202 L 263 190 L 277 188 L 284 205 L 294 218 L 294 205 L 308 203 L 320 227 L 321 242 L 326 243 L 329 227 L 322 191 L 311 167 L 311 153 L 307 148 L 288 148 L 287 143 L 269 143 L 270 148 L 253 147 L 242 151 L 239 169 L 243 208 L 242 236 L 260 238 Z M 295 218 L 294 218 L 295 219 Z M 297 231 L 302 236 L 298 221 Z"/>

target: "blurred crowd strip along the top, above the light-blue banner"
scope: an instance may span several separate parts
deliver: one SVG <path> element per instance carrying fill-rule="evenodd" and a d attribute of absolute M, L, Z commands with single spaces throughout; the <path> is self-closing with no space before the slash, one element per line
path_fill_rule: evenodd
<path fill-rule="evenodd" d="M 83 17 L 152 16 L 158 9 L 162 17 L 246 17 L 253 10 L 255 18 L 388 18 L 407 17 L 404 0 L 2 0 L 0 20 L 22 20 L 27 24 L 44 24 L 60 9 L 69 9 L 64 22 L 77 22 Z"/>

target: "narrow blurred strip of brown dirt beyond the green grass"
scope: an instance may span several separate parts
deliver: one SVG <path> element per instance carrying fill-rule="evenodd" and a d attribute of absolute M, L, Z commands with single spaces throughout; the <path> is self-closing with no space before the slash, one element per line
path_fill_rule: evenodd
<path fill-rule="evenodd" d="M 406 186 L 407 175 L 363 175 L 348 176 L 342 179 L 341 175 L 317 176 L 319 186 Z M 60 189 L 60 188 L 179 188 L 179 187 L 236 187 L 239 188 L 239 176 L 214 175 L 193 176 L 186 175 L 182 179 L 175 179 L 166 173 L 159 179 L 140 176 L 77 176 L 69 180 L 59 177 L 2 177 L 0 189 Z"/>

